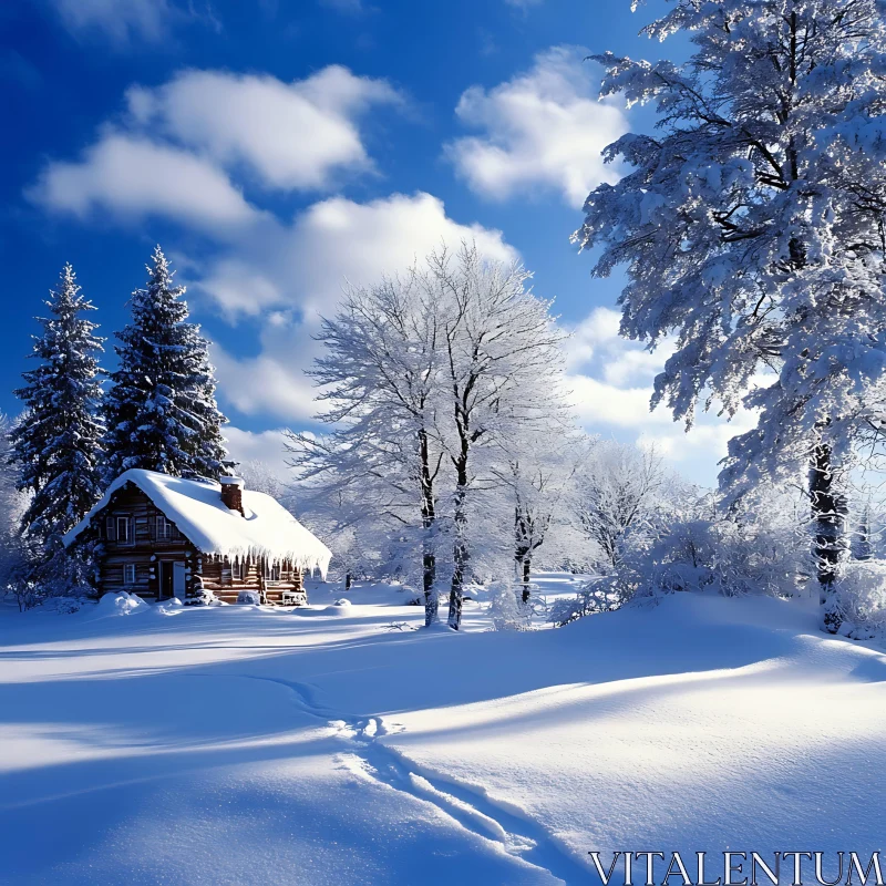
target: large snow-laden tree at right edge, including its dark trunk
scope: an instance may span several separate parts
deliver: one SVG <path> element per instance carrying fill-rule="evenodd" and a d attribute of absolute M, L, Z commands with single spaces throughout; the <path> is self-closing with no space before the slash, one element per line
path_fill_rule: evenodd
<path fill-rule="evenodd" d="M 598 58 L 602 93 L 657 103 L 659 133 L 606 150 L 630 171 L 587 199 L 576 238 L 627 265 L 624 334 L 677 350 L 656 381 L 691 423 L 697 400 L 760 410 L 721 485 L 811 474 L 824 605 L 842 540 L 834 477 L 872 415 L 886 365 L 886 19 L 879 0 L 674 0 L 646 29 L 688 32 L 683 65 Z M 745 394 L 755 374 L 769 374 Z M 705 402 L 705 406 L 710 400 Z"/>

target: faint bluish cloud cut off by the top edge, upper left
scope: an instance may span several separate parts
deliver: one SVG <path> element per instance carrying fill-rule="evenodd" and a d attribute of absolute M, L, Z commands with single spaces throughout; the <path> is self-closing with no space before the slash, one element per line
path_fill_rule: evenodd
<path fill-rule="evenodd" d="M 161 40 L 176 10 L 167 0 L 51 0 L 75 34 L 99 32 L 115 43 Z"/>

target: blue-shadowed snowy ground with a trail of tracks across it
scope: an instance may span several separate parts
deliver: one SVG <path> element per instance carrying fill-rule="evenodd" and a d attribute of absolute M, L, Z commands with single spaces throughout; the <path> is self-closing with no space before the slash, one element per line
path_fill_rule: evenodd
<path fill-rule="evenodd" d="M 560 593 L 565 576 L 543 576 Z M 593 883 L 587 852 L 880 848 L 886 656 L 683 595 L 424 633 L 396 588 L 0 615 L 3 884 Z"/>

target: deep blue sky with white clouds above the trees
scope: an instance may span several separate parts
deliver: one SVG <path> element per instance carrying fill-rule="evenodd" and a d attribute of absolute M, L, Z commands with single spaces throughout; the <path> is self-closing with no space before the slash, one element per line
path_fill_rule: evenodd
<path fill-rule="evenodd" d="M 596 100 L 612 50 L 680 58 L 638 35 L 662 4 L 593 0 L 34 0 L 0 8 L 7 137 L 0 408 L 64 261 L 126 321 L 161 243 L 214 342 L 240 457 L 309 426 L 318 312 L 441 241 L 519 256 L 575 329 L 569 371 L 591 431 L 656 440 L 711 482 L 729 431 L 689 436 L 645 402 L 663 357 L 616 334 L 620 280 L 569 243 L 600 148 L 648 110 Z M 111 350 L 109 342 L 109 351 Z M 113 362 L 109 353 L 107 363 Z"/>

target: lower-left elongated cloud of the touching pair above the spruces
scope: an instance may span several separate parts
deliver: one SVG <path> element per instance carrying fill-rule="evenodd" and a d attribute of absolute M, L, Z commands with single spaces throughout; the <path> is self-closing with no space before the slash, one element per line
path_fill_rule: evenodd
<path fill-rule="evenodd" d="M 80 161 L 50 163 L 27 195 L 47 209 L 80 218 L 96 210 L 124 218 L 164 215 L 209 230 L 246 225 L 260 215 L 206 159 L 112 131 Z"/>

